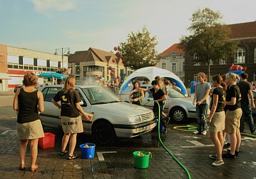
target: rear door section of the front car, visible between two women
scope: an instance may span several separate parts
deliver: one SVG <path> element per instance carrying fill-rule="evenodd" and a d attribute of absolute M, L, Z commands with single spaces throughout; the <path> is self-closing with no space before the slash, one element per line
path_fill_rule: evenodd
<path fill-rule="evenodd" d="M 42 90 L 44 95 L 44 112 L 40 113 L 40 116 L 44 125 L 61 126 L 61 110 L 51 103 L 52 98 L 57 94 L 59 90 L 61 90 L 61 87 L 45 87 Z"/>

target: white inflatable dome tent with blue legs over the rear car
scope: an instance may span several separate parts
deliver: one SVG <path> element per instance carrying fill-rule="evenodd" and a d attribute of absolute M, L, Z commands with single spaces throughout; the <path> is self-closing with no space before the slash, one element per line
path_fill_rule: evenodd
<path fill-rule="evenodd" d="M 147 78 L 151 83 L 153 80 L 155 80 L 156 76 L 160 76 L 161 78 L 166 78 L 166 79 L 170 80 L 171 83 L 175 82 L 176 86 L 181 89 L 181 92 L 183 94 L 185 94 L 185 95 L 188 94 L 184 83 L 180 80 L 180 78 L 177 75 L 175 75 L 174 73 L 172 73 L 171 71 L 168 71 L 166 69 L 161 69 L 161 68 L 157 68 L 157 67 L 153 67 L 153 66 L 137 69 L 131 75 L 129 75 L 124 80 L 124 83 L 122 84 L 122 86 L 120 88 L 121 89 L 120 93 L 122 93 L 122 91 L 124 91 L 126 89 L 126 87 L 130 81 L 133 81 L 136 78 L 144 77 L 144 78 Z"/>

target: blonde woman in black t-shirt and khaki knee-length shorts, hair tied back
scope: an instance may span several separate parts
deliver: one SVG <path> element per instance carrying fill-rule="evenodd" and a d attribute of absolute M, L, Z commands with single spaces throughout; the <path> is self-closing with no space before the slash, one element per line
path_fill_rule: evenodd
<path fill-rule="evenodd" d="M 240 118 L 242 117 L 241 110 L 241 94 L 239 87 L 236 85 L 239 76 L 235 73 L 228 73 L 227 75 L 227 98 L 225 103 L 226 118 L 225 118 L 225 132 L 230 135 L 230 148 L 227 149 L 227 154 L 223 157 L 234 159 L 238 155 L 241 144 L 241 134 L 239 131 Z"/>

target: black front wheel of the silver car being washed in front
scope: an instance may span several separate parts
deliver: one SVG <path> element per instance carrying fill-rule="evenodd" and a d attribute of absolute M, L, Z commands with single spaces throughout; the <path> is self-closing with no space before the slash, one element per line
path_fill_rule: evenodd
<path fill-rule="evenodd" d="M 115 130 L 108 122 L 98 122 L 93 127 L 93 140 L 100 145 L 111 145 L 116 138 Z"/>

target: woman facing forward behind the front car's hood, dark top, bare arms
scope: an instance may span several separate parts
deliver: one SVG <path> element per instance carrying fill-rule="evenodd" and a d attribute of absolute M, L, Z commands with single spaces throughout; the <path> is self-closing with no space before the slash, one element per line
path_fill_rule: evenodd
<path fill-rule="evenodd" d="M 132 104 L 141 106 L 141 99 L 144 97 L 143 90 L 140 89 L 140 82 L 133 83 L 133 88 L 129 94 L 129 99 Z"/>

